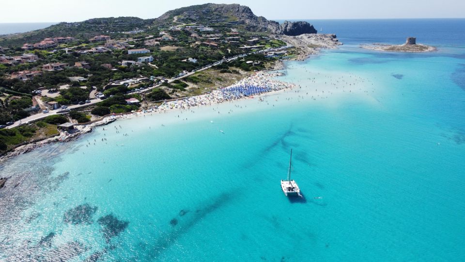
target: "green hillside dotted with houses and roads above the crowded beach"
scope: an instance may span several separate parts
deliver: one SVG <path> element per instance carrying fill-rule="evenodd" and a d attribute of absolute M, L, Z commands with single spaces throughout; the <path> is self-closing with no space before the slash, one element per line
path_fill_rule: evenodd
<path fill-rule="evenodd" d="M 1 36 L 0 126 L 50 110 L 79 122 L 211 92 L 296 57 L 278 31 L 248 7 L 204 4 Z"/>

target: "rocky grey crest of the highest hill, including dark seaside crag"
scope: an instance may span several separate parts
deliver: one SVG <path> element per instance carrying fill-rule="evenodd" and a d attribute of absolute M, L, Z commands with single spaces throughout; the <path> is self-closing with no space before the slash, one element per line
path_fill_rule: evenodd
<path fill-rule="evenodd" d="M 308 22 L 285 21 L 279 24 L 268 20 L 263 16 L 256 16 L 248 6 L 240 4 L 202 4 L 171 10 L 158 17 L 158 21 L 171 21 L 174 16 L 183 15 L 185 12 L 195 12 L 199 17 L 235 17 L 236 22 L 245 25 L 248 31 L 270 32 L 284 35 L 300 35 L 304 33 L 317 33 L 315 28 Z"/>

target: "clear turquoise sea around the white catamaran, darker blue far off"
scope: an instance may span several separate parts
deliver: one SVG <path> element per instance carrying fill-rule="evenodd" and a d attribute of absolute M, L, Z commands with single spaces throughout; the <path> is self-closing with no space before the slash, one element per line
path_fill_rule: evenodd
<path fill-rule="evenodd" d="M 438 21 L 321 21 L 345 45 L 287 62 L 293 90 L 2 163 L 0 260 L 464 261 L 465 20 Z M 433 53 L 358 48 L 402 43 L 399 27 L 444 37 L 418 37 Z M 291 148 L 302 199 L 279 186 Z"/>

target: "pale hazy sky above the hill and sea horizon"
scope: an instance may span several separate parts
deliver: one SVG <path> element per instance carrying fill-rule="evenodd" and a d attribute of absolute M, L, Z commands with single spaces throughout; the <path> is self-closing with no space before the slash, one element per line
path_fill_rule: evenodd
<path fill-rule="evenodd" d="M 465 0 L 2 0 L 0 23 L 155 18 L 184 6 L 238 3 L 267 19 L 464 18 Z M 388 3 L 388 4 L 387 4 Z"/>

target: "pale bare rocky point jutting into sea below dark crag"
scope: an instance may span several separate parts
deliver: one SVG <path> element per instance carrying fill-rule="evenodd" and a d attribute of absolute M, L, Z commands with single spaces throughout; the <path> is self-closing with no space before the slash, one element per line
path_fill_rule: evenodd
<path fill-rule="evenodd" d="M 304 33 L 297 36 L 275 35 L 275 37 L 294 46 L 299 53 L 292 60 L 299 61 L 307 59 L 310 55 L 320 53 L 322 49 L 336 49 L 342 45 L 336 34 L 330 33 Z"/>

